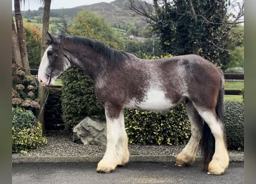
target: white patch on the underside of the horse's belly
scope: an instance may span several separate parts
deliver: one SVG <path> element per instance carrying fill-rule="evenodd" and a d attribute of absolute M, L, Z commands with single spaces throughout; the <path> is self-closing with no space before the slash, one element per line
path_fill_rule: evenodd
<path fill-rule="evenodd" d="M 125 108 L 143 109 L 143 110 L 166 110 L 174 107 L 176 104 L 171 99 L 166 98 L 164 91 L 158 89 L 149 90 L 142 101 L 131 99 Z"/>

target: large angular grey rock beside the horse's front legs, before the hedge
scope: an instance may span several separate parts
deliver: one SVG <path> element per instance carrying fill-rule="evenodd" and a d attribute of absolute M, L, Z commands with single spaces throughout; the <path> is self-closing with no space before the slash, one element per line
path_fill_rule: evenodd
<path fill-rule="evenodd" d="M 72 141 L 79 144 L 106 145 L 106 122 L 84 118 L 75 125 Z"/>

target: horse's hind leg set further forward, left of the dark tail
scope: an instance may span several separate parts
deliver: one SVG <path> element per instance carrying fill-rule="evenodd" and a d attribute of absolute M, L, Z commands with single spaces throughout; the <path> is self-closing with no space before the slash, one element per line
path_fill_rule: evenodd
<path fill-rule="evenodd" d="M 198 144 L 202 136 L 202 118 L 191 101 L 185 104 L 185 106 L 190 120 L 191 137 L 185 148 L 177 155 L 175 162 L 176 166 L 188 166 L 194 162 L 198 151 Z"/>

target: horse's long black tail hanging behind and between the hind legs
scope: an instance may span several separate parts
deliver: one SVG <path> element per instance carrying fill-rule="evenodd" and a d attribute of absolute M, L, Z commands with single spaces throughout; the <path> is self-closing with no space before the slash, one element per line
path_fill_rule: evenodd
<path fill-rule="evenodd" d="M 216 115 L 221 121 L 220 123 L 223 123 L 224 116 L 224 75 L 223 72 L 220 71 L 221 76 L 221 82 L 220 82 L 220 90 L 217 97 L 217 104 L 216 104 Z M 226 133 L 225 129 L 223 127 L 223 134 L 224 134 L 224 142 L 226 143 Z M 204 127 L 202 128 L 202 140 L 201 140 L 201 148 L 202 148 L 202 163 L 203 163 L 203 169 L 207 170 L 209 162 L 212 160 L 212 156 L 215 152 L 215 138 L 212 135 L 211 129 L 209 128 L 207 123 L 204 123 Z"/>

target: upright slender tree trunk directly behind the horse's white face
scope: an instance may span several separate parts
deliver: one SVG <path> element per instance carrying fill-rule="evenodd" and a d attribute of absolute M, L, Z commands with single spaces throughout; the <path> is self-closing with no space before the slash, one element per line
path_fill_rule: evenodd
<path fill-rule="evenodd" d="M 51 0 L 44 0 L 44 15 L 43 15 L 43 34 L 42 34 L 42 43 L 41 43 L 41 58 L 44 55 L 44 51 L 47 47 L 45 43 L 45 37 L 47 34 L 47 31 L 49 29 L 49 14 L 51 9 Z M 46 88 L 39 84 L 39 90 L 38 90 L 38 98 L 40 104 L 43 104 L 44 102 L 44 96 L 45 96 Z M 42 107 L 41 107 L 42 108 Z M 40 117 L 39 121 L 43 125 L 43 133 L 45 133 L 45 124 L 44 124 L 44 110 L 42 111 L 42 116 Z"/>

